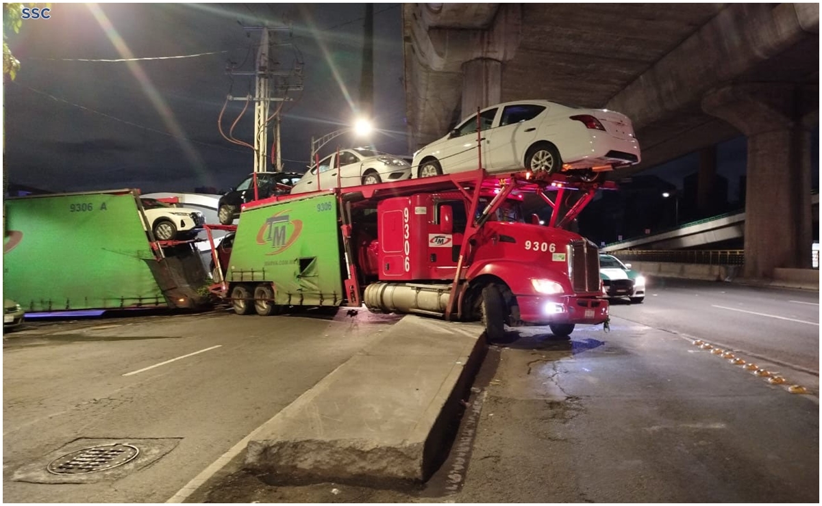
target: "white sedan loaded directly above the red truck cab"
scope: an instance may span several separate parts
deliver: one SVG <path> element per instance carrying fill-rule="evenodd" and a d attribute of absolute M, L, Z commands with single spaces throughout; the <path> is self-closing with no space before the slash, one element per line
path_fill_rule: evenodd
<path fill-rule="evenodd" d="M 583 180 L 640 162 L 640 144 L 628 116 L 606 109 L 583 109 L 547 100 L 524 100 L 487 107 L 464 119 L 445 137 L 414 154 L 412 177 L 471 171 L 574 170 Z"/>

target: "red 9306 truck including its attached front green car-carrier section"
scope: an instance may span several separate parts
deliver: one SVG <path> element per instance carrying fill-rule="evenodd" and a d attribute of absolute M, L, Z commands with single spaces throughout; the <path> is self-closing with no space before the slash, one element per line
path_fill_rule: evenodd
<path fill-rule="evenodd" d="M 566 336 L 607 324 L 598 248 L 563 227 L 609 184 L 529 176 L 472 171 L 247 204 L 220 291 L 238 314 L 364 303 L 480 320 L 489 340 L 505 325 Z M 546 225 L 523 216 L 526 194 L 552 207 Z"/>

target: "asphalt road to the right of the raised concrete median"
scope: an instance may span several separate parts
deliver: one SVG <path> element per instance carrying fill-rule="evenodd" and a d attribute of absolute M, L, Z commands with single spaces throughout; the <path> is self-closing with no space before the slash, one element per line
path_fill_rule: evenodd
<path fill-rule="evenodd" d="M 799 290 L 655 282 L 644 304 L 614 305 L 609 333 L 578 327 L 563 342 L 530 328 L 493 346 L 426 485 L 275 486 L 234 467 L 195 500 L 818 503 L 818 394 L 692 344 L 818 385 L 818 303 Z"/>

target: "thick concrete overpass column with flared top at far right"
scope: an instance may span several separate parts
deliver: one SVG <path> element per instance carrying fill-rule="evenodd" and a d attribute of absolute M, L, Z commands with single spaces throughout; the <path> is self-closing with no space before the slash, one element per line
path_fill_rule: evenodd
<path fill-rule="evenodd" d="M 704 112 L 748 138 L 746 277 L 810 267 L 810 129 L 802 116 L 818 111 L 818 93 L 795 84 L 736 84 L 702 101 Z"/>

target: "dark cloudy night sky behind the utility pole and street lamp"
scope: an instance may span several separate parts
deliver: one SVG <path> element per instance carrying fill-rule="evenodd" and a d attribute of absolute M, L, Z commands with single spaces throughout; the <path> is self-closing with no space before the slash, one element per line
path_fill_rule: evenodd
<path fill-rule="evenodd" d="M 277 49 L 283 68 L 304 62 L 302 92 L 284 106 L 285 170 L 303 171 L 312 135 L 356 115 L 363 53 L 363 4 L 86 4 L 51 6 L 51 19 L 23 21 L 11 34 L 21 61 L 5 80 L 3 170 L 20 185 L 58 192 L 139 188 L 192 191 L 236 185 L 252 171 L 252 150 L 222 138 L 225 97 L 253 93 L 251 77 L 227 75 L 229 62 L 252 70 L 259 31 L 242 25 L 293 23 L 291 47 Z M 374 124 L 370 139 L 387 153 L 408 154 L 404 124 L 399 4 L 376 4 Z M 242 25 L 240 24 L 242 23 Z M 282 40 L 286 37 L 281 36 Z M 139 62 L 63 59 L 201 57 Z M 242 111 L 232 102 L 224 131 Z M 253 144 L 253 104 L 234 136 Z M 173 135 L 173 136 L 172 136 Z M 333 150 L 366 142 L 339 137 Z M 330 153 L 330 151 L 328 152 Z"/>

